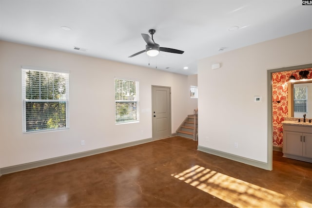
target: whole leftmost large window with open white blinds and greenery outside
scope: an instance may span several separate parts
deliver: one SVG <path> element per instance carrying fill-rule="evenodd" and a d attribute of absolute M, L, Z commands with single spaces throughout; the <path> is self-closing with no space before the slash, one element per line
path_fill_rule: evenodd
<path fill-rule="evenodd" d="M 69 74 L 22 69 L 23 132 L 68 129 Z"/>

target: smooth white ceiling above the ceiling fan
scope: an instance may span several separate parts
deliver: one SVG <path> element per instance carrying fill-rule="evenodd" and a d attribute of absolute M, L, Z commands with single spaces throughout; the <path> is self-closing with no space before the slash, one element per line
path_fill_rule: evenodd
<path fill-rule="evenodd" d="M 152 28 L 156 43 L 184 54 L 129 58 Z M 308 29 L 302 0 L 0 0 L 2 40 L 184 75 L 197 74 L 198 59 Z"/>

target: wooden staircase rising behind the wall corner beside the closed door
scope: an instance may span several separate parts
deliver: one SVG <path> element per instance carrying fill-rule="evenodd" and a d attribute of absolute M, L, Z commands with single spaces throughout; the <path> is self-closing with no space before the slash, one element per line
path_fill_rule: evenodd
<path fill-rule="evenodd" d="M 178 136 L 183 136 L 197 140 L 197 110 L 194 110 L 194 114 L 188 115 L 179 128 L 176 130 Z"/>

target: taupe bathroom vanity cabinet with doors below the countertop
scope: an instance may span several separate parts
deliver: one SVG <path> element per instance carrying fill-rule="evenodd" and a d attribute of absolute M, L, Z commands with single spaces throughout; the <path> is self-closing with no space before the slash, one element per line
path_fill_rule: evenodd
<path fill-rule="evenodd" d="M 312 124 L 283 123 L 283 156 L 312 163 Z"/>

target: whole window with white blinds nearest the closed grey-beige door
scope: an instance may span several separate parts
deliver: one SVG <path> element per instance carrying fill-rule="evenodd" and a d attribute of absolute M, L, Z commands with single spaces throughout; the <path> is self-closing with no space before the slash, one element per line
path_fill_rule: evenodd
<path fill-rule="evenodd" d="M 139 121 L 139 83 L 115 78 L 116 124 Z"/>

